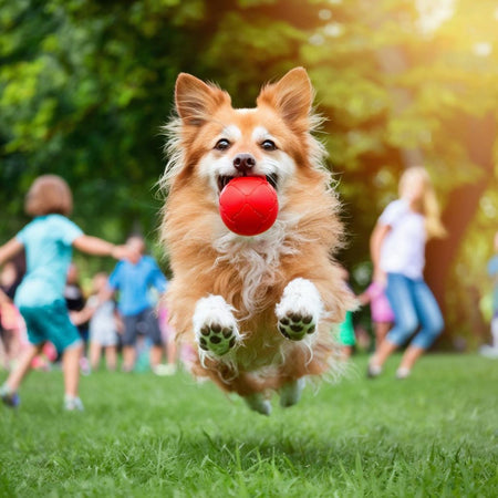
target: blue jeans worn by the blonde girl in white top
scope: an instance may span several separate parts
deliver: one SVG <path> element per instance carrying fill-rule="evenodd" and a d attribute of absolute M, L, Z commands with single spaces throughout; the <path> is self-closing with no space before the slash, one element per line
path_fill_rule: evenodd
<path fill-rule="evenodd" d="M 400 346 L 421 326 L 412 345 L 424 350 L 430 347 L 443 331 L 444 321 L 436 299 L 424 280 L 387 273 L 386 295 L 395 317 L 387 340 Z"/>

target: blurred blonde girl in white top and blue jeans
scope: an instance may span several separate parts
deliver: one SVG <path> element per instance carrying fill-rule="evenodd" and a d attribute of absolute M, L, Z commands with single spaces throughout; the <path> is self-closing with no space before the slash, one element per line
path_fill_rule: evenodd
<path fill-rule="evenodd" d="M 418 357 L 440 334 L 443 317 L 423 271 L 426 241 L 444 235 L 427 172 L 423 167 L 406 169 L 400 180 L 400 198 L 385 208 L 371 238 L 374 281 L 386 286 L 395 322 L 370 361 L 370 377 L 381 374 L 387 357 L 419 328 L 396 372 L 398 378 L 408 376 Z"/>

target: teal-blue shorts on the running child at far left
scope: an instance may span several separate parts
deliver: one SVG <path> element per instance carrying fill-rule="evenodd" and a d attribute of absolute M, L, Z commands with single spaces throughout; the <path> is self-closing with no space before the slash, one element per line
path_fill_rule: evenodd
<path fill-rule="evenodd" d="M 77 329 L 71 323 L 65 301 L 41 307 L 20 307 L 28 329 L 28 340 L 33 345 L 50 341 L 59 352 L 81 343 Z"/>

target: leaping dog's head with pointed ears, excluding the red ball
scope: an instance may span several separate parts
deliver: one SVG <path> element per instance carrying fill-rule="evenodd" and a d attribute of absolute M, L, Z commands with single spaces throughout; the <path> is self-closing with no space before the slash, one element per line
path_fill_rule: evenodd
<path fill-rule="evenodd" d="M 228 93 L 185 73 L 175 100 L 169 177 L 200 181 L 212 200 L 237 176 L 264 176 L 280 195 L 322 152 L 310 134 L 313 91 L 302 68 L 264 86 L 255 108 L 234 108 Z"/>

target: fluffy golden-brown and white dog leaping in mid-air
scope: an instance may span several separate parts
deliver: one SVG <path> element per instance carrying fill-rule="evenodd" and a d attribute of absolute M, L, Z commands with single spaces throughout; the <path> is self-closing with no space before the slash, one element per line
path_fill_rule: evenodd
<path fill-rule="evenodd" d="M 297 68 L 263 86 L 255 108 L 234 108 L 228 93 L 181 73 L 175 100 L 163 179 L 170 324 L 195 347 L 195 375 L 269 414 L 273 392 L 293 405 L 304 377 L 333 369 L 331 330 L 354 307 L 332 259 L 342 227 L 312 136 L 313 90 Z M 253 237 L 229 231 L 218 210 L 224 186 L 248 175 L 266 176 L 280 206 L 274 225 Z"/>

